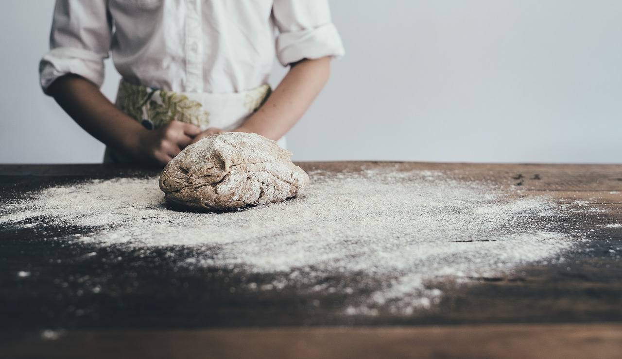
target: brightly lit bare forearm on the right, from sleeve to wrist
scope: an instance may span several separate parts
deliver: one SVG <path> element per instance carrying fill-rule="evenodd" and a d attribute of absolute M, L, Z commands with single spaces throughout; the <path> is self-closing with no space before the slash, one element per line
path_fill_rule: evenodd
<path fill-rule="evenodd" d="M 330 58 L 302 60 L 289 70 L 267 101 L 241 127 L 272 140 L 280 139 L 307 111 L 330 75 Z"/>

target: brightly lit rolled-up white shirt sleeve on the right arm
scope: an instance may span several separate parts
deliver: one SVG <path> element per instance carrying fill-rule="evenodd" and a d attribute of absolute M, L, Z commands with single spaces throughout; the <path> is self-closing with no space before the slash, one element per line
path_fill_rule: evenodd
<path fill-rule="evenodd" d="M 305 58 L 344 55 L 327 0 L 274 0 L 272 15 L 279 29 L 277 58 L 283 66 Z"/>

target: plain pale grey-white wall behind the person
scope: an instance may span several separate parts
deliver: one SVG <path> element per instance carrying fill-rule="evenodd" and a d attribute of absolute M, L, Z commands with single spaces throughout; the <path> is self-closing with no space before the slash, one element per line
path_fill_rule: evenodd
<path fill-rule="evenodd" d="M 288 136 L 296 160 L 622 162 L 622 1 L 331 4 L 347 55 Z M 101 160 L 39 89 L 52 7 L 2 1 L 0 163 Z"/>

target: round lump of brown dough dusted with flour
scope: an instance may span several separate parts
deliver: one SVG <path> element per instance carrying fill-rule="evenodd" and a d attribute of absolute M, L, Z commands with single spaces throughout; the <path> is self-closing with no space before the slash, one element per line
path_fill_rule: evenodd
<path fill-rule="evenodd" d="M 160 175 L 164 198 L 194 209 L 233 209 L 300 194 L 309 176 L 292 153 L 257 134 L 224 132 L 184 148 Z"/>

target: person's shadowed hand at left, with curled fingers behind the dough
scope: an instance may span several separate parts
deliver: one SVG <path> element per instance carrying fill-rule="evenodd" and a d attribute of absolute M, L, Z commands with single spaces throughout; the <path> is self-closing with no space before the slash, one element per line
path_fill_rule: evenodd
<path fill-rule="evenodd" d="M 199 134 L 197 126 L 174 120 L 157 130 L 142 130 L 128 150 L 137 160 L 166 165 Z"/>

